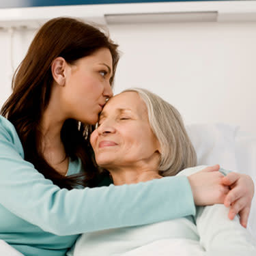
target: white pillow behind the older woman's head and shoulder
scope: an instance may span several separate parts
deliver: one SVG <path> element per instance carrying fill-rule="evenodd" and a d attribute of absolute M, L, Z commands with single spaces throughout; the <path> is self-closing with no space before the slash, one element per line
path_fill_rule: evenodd
<path fill-rule="evenodd" d="M 227 124 L 186 126 L 197 152 L 197 165 L 219 164 L 223 169 L 245 173 L 256 180 L 256 134 L 241 132 Z M 256 197 L 248 219 L 248 230 L 256 239 Z"/>

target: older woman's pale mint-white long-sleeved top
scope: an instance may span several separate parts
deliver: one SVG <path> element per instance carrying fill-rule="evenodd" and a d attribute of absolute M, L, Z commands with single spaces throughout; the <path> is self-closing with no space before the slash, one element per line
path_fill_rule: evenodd
<path fill-rule="evenodd" d="M 177 175 L 190 175 L 204 168 L 188 168 Z M 224 205 L 216 204 L 197 207 L 195 218 L 188 216 L 151 225 L 85 233 L 68 255 L 167 256 L 173 253 L 201 256 L 226 251 L 255 256 L 255 240 L 240 225 L 238 216 L 233 221 L 229 220 L 228 211 Z"/>

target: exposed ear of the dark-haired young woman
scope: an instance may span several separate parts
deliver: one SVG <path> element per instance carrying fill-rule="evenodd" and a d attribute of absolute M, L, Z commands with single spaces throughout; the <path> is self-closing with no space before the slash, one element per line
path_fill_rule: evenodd
<path fill-rule="evenodd" d="M 64 86 L 66 83 L 66 69 L 68 68 L 68 63 L 63 57 L 57 57 L 53 60 L 51 65 L 51 72 L 53 74 L 53 79 L 58 85 Z"/>

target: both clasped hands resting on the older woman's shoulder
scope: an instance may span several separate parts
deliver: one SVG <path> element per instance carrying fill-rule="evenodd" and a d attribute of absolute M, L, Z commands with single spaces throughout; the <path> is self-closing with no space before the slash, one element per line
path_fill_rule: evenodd
<path fill-rule="evenodd" d="M 224 203 L 229 207 L 229 219 L 240 215 L 246 227 L 255 187 L 249 175 L 231 172 L 226 176 L 218 171 L 219 165 L 207 167 L 188 176 L 196 205 Z"/>

